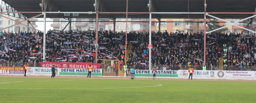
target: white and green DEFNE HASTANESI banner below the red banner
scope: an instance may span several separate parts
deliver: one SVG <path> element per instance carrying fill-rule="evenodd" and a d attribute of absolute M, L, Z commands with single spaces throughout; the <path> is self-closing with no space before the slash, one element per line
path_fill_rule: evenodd
<path fill-rule="evenodd" d="M 59 69 L 59 75 L 87 76 L 88 69 Z M 102 76 L 102 69 L 93 69 L 91 76 Z"/>

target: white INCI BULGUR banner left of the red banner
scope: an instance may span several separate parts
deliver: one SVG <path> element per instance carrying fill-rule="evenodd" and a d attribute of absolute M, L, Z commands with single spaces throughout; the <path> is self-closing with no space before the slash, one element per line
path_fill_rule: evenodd
<path fill-rule="evenodd" d="M 56 69 L 58 71 L 58 69 Z M 27 74 L 52 75 L 52 68 L 28 67 Z"/>

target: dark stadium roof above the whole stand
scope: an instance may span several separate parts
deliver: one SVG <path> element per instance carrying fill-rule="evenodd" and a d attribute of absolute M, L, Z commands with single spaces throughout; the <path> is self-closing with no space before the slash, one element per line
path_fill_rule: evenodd
<path fill-rule="evenodd" d="M 41 0 L 3 0 L 17 11 L 39 11 Z M 45 0 L 46 11 L 95 11 L 95 0 Z M 99 12 L 126 12 L 126 0 L 97 0 Z M 128 0 L 128 12 L 148 12 L 149 0 Z M 255 12 L 255 0 L 206 0 L 207 12 Z M 152 0 L 154 12 L 204 12 L 204 0 Z M 38 14 L 23 13 L 26 17 Z M 70 14 L 72 15 L 72 14 Z M 253 14 L 212 14 L 220 18 L 245 18 Z M 40 16 L 42 17 L 42 16 Z M 64 14 L 47 14 L 47 18 L 63 18 Z M 73 16 L 72 16 L 73 17 Z M 95 18 L 96 14 L 79 14 Z M 73 18 L 78 18 L 73 17 Z M 126 14 L 99 14 L 99 18 L 125 18 Z M 152 14 L 152 18 L 203 18 L 204 14 Z M 66 17 L 67 18 L 67 17 Z M 149 14 L 128 14 L 128 18 L 149 18 Z"/>

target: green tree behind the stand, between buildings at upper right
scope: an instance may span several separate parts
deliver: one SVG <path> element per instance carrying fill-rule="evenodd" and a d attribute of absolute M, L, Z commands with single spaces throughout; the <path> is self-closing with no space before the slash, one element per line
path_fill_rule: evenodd
<path fill-rule="evenodd" d="M 222 25 L 222 26 L 219 25 L 217 19 L 210 19 L 210 21 L 208 23 L 207 31 L 212 31 L 212 30 L 221 28 L 223 26 L 225 26 L 225 25 Z M 213 31 L 213 32 L 215 32 L 215 33 L 225 33 L 225 31 L 227 31 L 227 30 L 228 30 L 227 28 L 223 28 L 223 29 L 220 29 L 220 30 L 217 30 L 217 31 Z"/>

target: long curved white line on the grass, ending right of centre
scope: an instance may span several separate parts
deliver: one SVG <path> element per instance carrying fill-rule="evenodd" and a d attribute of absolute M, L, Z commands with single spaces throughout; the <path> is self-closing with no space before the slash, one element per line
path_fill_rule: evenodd
<path fill-rule="evenodd" d="M 129 89 L 129 88 L 147 88 L 147 87 L 156 87 L 156 86 L 163 86 L 162 84 L 157 84 L 155 86 L 133 86 L 133 87 L 116 87 L 116 88 L 72 88 L 72 89 Z M 6 89 L 6 88 L 0 88 Z M 29 89 L 29 88 L 26 88 Z"/>

